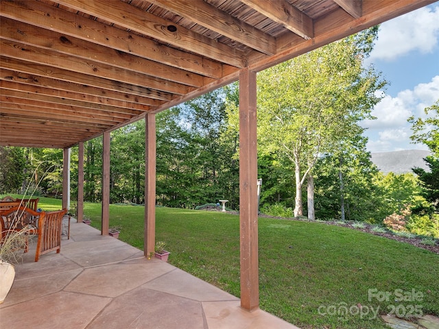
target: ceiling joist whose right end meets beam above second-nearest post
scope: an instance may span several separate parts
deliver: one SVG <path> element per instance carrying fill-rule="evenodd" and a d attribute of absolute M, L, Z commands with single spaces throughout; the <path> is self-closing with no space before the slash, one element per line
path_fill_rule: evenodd
<path fill-rule="evenodd" d="M 43 101 L 47 103 L 60 104 L 64 106 L 73 106 L 77 108 L 84 108 L 86 110 L 101 110 L 115 115 L 118 114 L 128 114 L 128 116 L 139 115 L 149 108 L 144 108 L 143 110 L 131 110 L 130 108 L 117 108 L 115 106 L 108 106 L 96 103 L 89 103 L 86 101 L 77 101 L 73 99 L 64 99 L 63 97 L 53 97 L 51 95 L 43 95 L 42 93 L 27 93 L 25 90 L 12 90 L 10 88 L 3 88 L 2 85 L 6 84 L 4 81 L 0 81 L 0 95 L 5 97 L 17 97 L 21 99 L 32 99 L 32 101 Z M 39 90 L 38 90 L 39 91 Z M 122 118 L 127 118 L 126 115 L 121 116 Z"/>

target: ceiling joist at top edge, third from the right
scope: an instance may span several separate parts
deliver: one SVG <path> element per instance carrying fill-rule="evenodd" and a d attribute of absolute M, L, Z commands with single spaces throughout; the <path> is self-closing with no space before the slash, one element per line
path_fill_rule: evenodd
<path fill-rule="evenodd" d="M 187 5 L 187 1 L 182 0 L 148 0 L 148 2 L 266 55 L 276 53 L 276 39 L 273 36 L 202 0 L 191 0 L 191 6 Z"/>

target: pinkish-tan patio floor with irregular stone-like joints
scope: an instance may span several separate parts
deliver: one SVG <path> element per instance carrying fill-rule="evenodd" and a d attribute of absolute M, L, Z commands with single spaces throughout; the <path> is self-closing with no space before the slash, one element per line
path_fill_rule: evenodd
<path fill-rule="evenodd" d="M 84 223 L 71 222 L 61 253 L 34 262 L 36 243 L 16 265 L 0 304 L 0 328 L 276 328 L 296 326 Z"/>

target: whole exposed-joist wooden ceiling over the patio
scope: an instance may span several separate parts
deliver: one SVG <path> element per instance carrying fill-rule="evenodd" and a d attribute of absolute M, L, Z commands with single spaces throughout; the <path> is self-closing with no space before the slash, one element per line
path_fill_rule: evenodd
<path fill-rule="evenodd" d="M 0 145 L 71 147 L 432 0 L 0 1 Z"/>

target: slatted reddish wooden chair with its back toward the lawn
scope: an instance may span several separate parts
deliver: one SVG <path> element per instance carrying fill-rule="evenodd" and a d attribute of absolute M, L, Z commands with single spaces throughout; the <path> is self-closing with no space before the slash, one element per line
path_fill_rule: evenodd
<path fill-rule="evenodd" d="M 67 209 L 45 212 L 38 219 L 38 242 L 36 243 L 35 261 L 48 252 L 61 251 L 62 217 Z"/>

